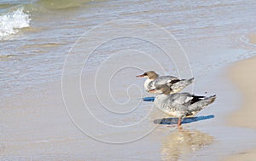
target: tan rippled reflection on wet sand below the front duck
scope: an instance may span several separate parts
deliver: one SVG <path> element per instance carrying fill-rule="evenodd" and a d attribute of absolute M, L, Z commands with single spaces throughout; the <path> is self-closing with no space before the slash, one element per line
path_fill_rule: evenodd
<path fill-rule="evenodd" d="M 213 137 L 199 130 L 176 129 L 162 141 L 162 160 L 180 160 L 185 155 L 212 144 Z"/>

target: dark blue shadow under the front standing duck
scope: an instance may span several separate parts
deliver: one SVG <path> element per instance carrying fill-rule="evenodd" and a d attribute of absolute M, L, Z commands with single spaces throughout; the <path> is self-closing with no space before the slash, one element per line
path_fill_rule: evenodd
<path fill-rule="evenodd" d="M 200 117 L 190 117 L 190 118 L 183 118 L 182 124 L 189 124 L 205 119 L 211 119 L 214 118 L 214 115 L 208 115 L 208 116 L 200 116 Z M 161 119 L 155 119 L 154 124 L 177 124 L 178 118 L 161 118 Z"/>

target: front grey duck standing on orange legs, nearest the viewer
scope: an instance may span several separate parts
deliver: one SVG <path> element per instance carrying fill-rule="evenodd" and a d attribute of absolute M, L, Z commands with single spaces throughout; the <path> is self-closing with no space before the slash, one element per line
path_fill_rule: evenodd
<path fill-rule="evenodd" d="M 185 117 L 194 116 L 206 106 L 212 104 L 216 99 L 216 95 L 201 96 L 190 93 L 175 93 L 170 94 L 168 85 L 158 85 L 154 89 L 157 94 L 154 99 L 154 106 L 162 112 L 178 118 L 177 126 L 181 126 L 182 119 Z"/>

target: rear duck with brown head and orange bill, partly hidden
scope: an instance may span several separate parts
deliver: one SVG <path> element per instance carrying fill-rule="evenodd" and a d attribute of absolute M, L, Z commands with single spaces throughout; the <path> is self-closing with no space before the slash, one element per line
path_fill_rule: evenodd
<path fill-rule="evenodd" d="M 144 82 L 144 89 L 149 93 L 152 93 L 151 91 L 156 85 L 166 84 L 170 88 L 170 94 L 174 94 L 181 91 L 194 81 L 194 78 L 179 79 L 174 76 L 159 76 L 159 74 L 154 71 L 144 72 L 141 75 L 137 75 L 137 78 L 147 78 Z"/>

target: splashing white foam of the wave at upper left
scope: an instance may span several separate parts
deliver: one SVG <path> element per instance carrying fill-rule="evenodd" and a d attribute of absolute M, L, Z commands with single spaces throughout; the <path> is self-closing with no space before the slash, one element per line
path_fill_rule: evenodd
<path fill-rule="evenodd" d="M 19 32 L 19 29 L 28 27 L 29 14 L 23 12 L 23 8 L 0 16 L 0 39 Z"/>

